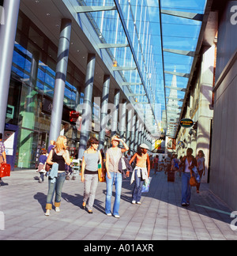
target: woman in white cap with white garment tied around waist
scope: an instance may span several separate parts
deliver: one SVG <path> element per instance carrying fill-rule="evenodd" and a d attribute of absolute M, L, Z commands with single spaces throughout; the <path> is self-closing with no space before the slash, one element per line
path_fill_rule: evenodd
<path fill-rule="evenodd" d="M 141 144 L 137 152 L 134 154 L 132 159 L 130 160 L 130 164 L 133 163 L 135 159 L 137 159 L 136 167 L 134 168 L 134 172 L 131 177 L 131 184 L 134 184 L 133 198 L 132 204 L 141 205 L 141 190 L 143 186 L 143 181 L 148 181 L 150 175 L 150 160 L 148 155 L 148 145 Z"/>

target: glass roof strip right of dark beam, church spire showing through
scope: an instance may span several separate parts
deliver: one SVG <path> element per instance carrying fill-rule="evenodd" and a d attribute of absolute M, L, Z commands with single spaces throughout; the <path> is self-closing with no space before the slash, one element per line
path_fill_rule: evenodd
<path fill-rule="evenodd" d="M 167 124 L 166 134 L 175 137 L 194 62 L 206 0 L 160 0 L 159 2 L 166 103 L 163 126 Z"/>

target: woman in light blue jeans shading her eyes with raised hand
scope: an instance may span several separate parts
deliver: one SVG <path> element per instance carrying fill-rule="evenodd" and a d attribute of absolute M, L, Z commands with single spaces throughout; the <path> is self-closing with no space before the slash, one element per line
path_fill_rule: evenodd
<path fill-rule="evenodd" d="M 120 149 L 118 147 L 120 141 L 122 142 L 124 149 Z M 119 205 L 122 191 L 122 173 L 119 172 L 119 160 L 122 156 L 122 153 L 128 151 L 129 147 L 117 135 L 111 137 L 111 144 L 111 148 L 107 149 L 105 162 L 107 170 L 107 195 L 105 201 L 105 213 L 107 214 L 107 216 L 112 216 L 111 198 L 113 184 L 115 183 L 115 202 L 113 207 L 113 215 L 115 216 L 115 218 L 119 218 Z M 129 173 L 127 172 L 126 175 L 129 176 Z"/>

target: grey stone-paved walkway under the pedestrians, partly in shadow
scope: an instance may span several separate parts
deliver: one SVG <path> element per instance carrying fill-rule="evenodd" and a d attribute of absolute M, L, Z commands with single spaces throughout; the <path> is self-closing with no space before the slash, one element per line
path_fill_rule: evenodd
<path fill-rule="evenodd" d="M 97 189 L 93 214 L 81 209 L 83 184 L 79 177 L 66 181 L 61 213 L 44 216 L 47 182 L 38 183 L 36 171 L 13 171 L 0 187 L 0 240 L 171 240 L 237 239 L 231 230 L 231 209 L 201 184 L 201 193 L 193 189 L 191 204 L 180 205 L 181 178 L 168 183 L 164 172 L 152 175 L 149 194 L 142 205 L 132 205 L 130 180 L 122 185 L 120 219 L 104 214 L 106 186 Z M 3 214 L 2 214 L 3 213 Z M 237 221 L 236 221 L 237 222 Z M 4 225 L 3 225 L 4 224 Z"/>

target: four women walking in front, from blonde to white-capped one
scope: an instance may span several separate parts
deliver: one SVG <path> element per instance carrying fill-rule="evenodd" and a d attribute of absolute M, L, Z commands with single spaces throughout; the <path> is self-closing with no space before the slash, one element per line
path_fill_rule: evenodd
<path fill-rule="evenodd" d="M 119 143 L 122 143 L 123 148 L 119 148 Z M 84 183 L 84 196 L 81 203 L 82 209 L 87 209 L 89 214 L 92 214 L 92 209 L 96 197 L 96 189 L 98 186 L 98 166 L 103 168 L 103 158 L 101 152 L 98 150 L 99 141 L 92 137 L 88 140 L 88 149 L 85 150 L 81 163 L 81 182 Z M 137 152 L 130 159 L 130 164 L 136 160 L 136 167 L 134 168 L 131 177 L 131 183 L 134 183 L 133 204 L 141 205 L 141 189 L 144 180 L 149 178 L 150 162 L 147 153 L 149 147 L 141 144 Z M 105 170 L 102 176 L 106 176 L 107 194 L 105 199 L 105 214 L 107 216 L 115 216 L 119 218 L 119 206 L 122 193 L 122 173 L 119 171 L 119 161 L 122 154 L 127 152 L 129 147 L 126 142 L 119 136 L 111 138 L 111 148 L 107 149 L 105 157 Z M 47 164 L 51 165 L 49 174 L 49 189 L 47 194 L 46 216 L 50 215 L 52 209 L 52 201 L 55 194 L 55 211 L 60 212 L 60 203 L 62 197 L 62 186 L 65 182 L 65 164 L 70 165 L 70 156 L 66 146 L 66 137 L 59 136 L 55 143 L 55 148 L 51 149 L 49 156 L 47 156 Z M 126 176 L 130 176 L 130 171 L 126 171 Z M 101 177 L 103 178 L 103 177 Z M 113 185 L 115 184 L 115 202 L 111 208 L 111 198 Z"/>

